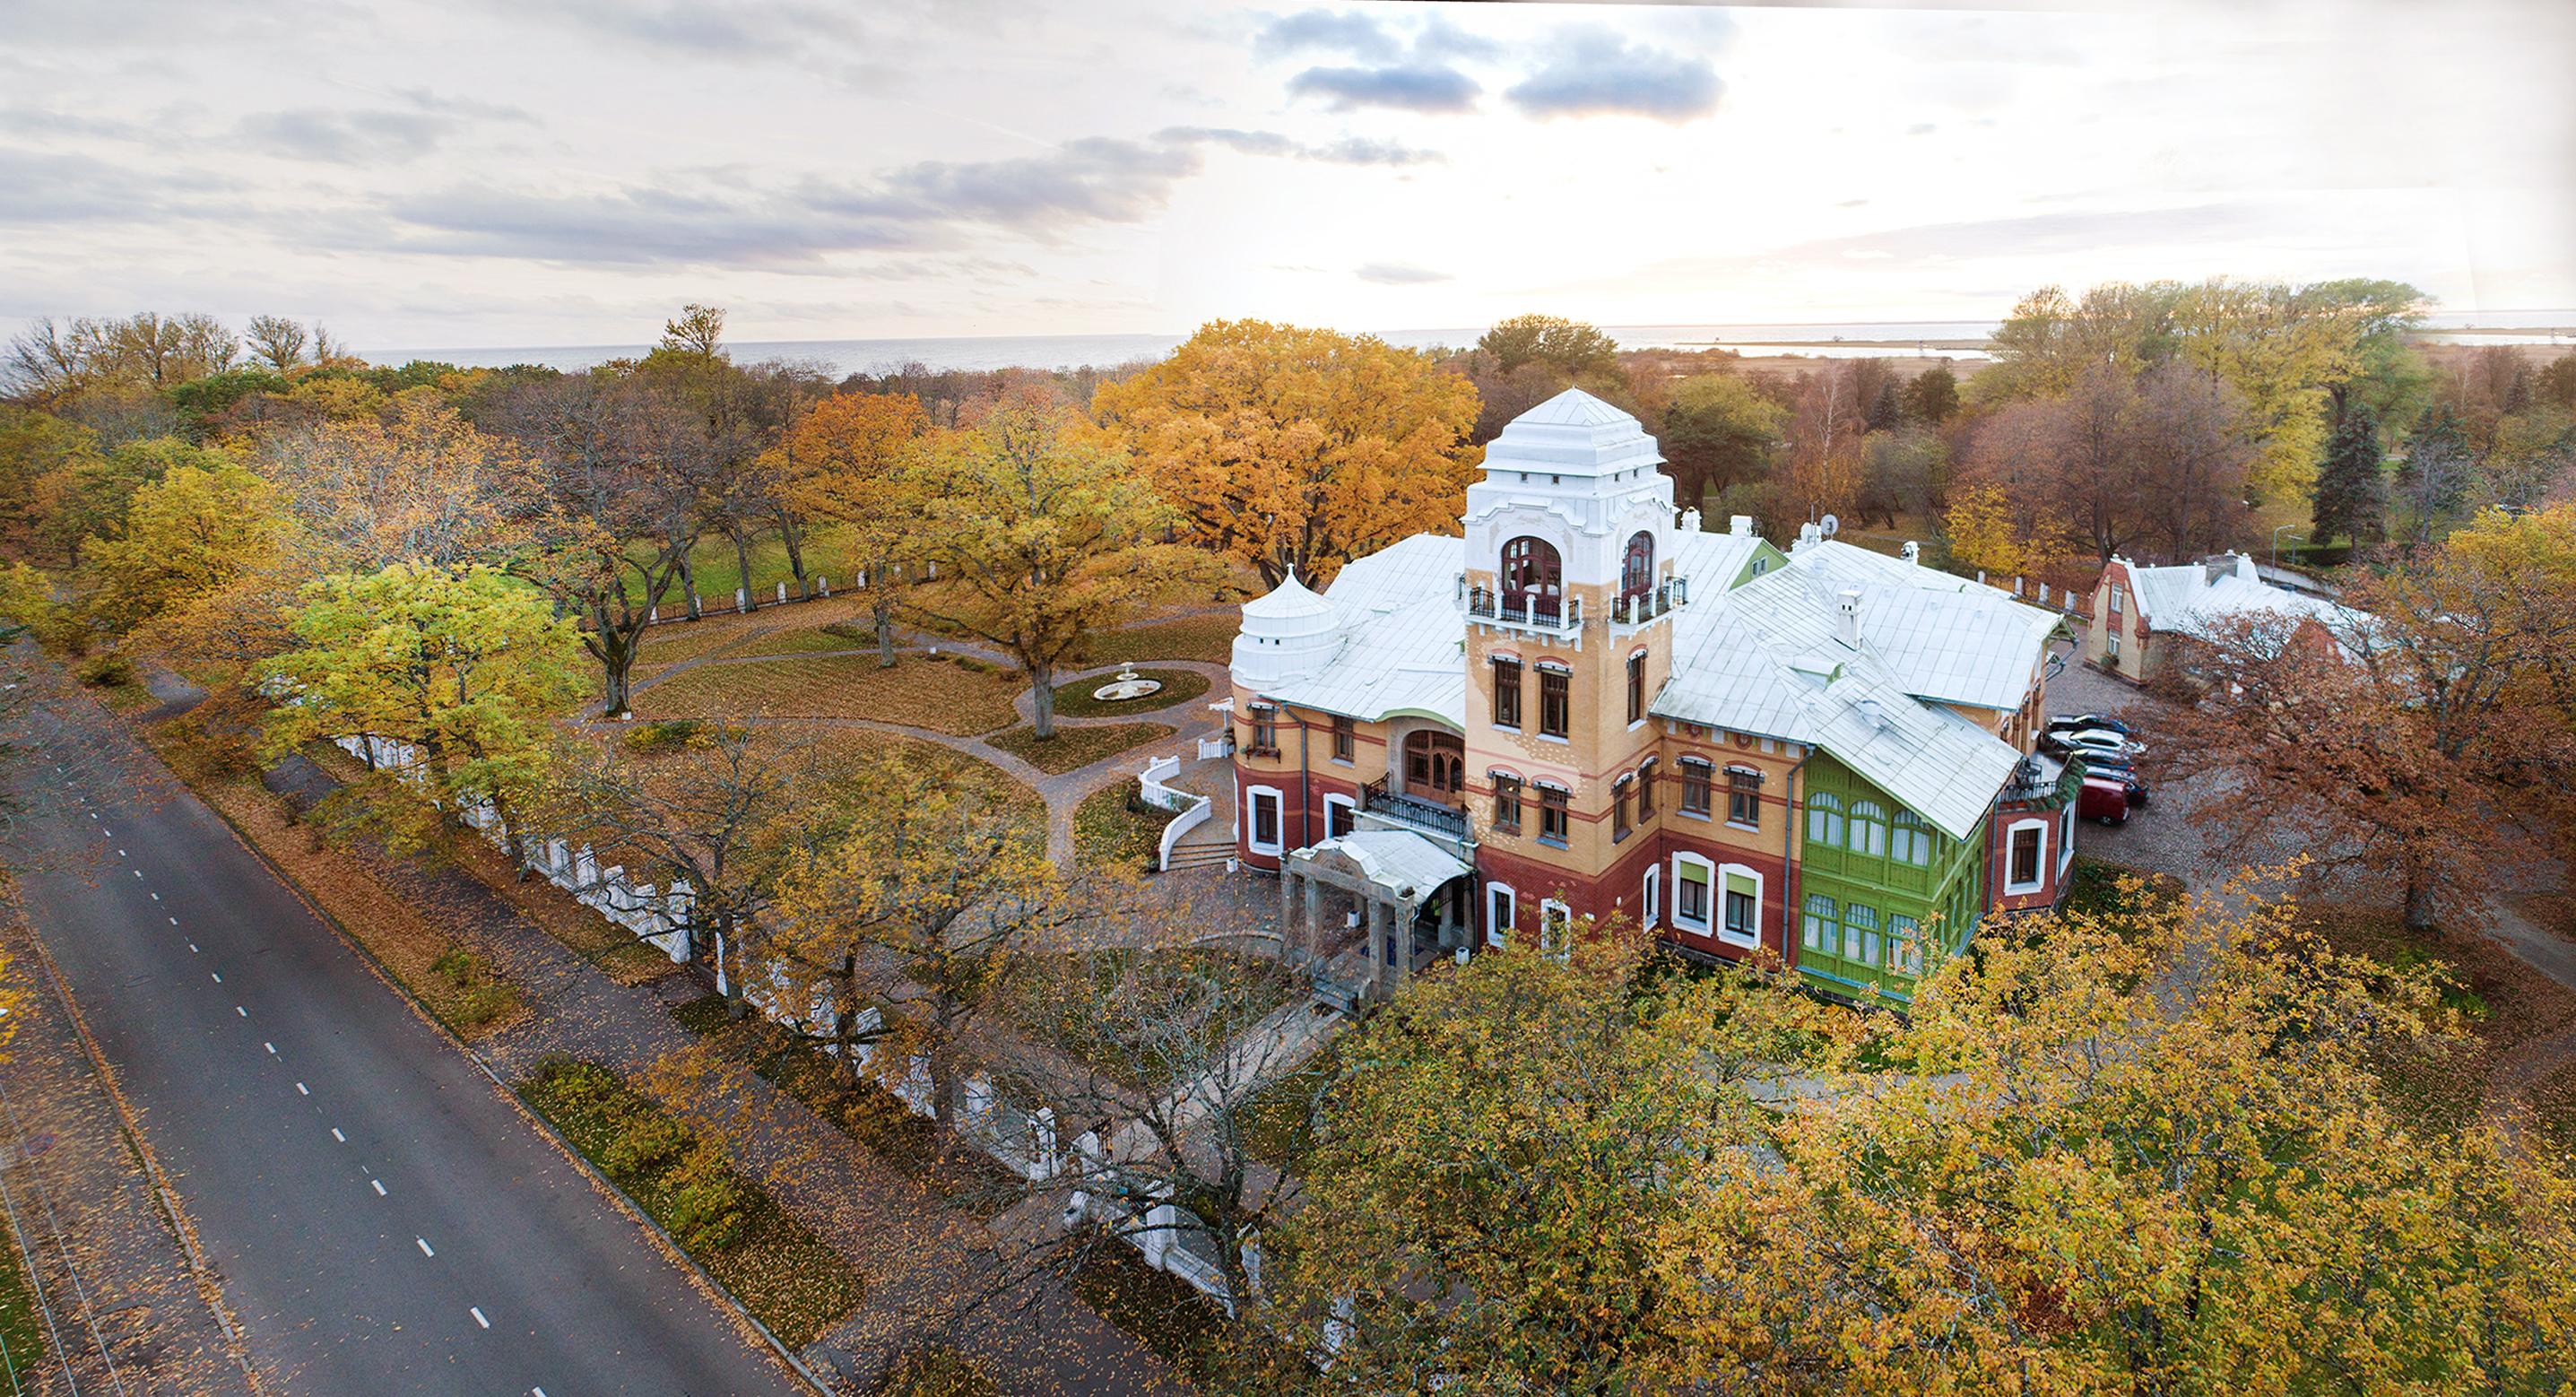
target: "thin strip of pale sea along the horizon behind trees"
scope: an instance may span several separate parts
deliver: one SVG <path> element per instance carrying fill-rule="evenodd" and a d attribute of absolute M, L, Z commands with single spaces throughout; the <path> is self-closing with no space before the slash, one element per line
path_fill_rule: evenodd
<path fill-rule="evenodd" d="M 1999 320 L 1808 320 L 1808 322 L 1685 322 L 1685 325 L 1602 325 L 1620 348 L 1731 348 L 1749 358 L 1868 358 L 1929 356 L 1986 358 L 1984 345 Z M 2576 309 L 2494 309 L 2429 314 L 2424 332 L 2476 343 L 2553 343 L 2576 327 Z M 2553 335 L 2553 330 L 2558 335 Z M 1466 348 L 1484 327 L 1368 330 L 1401 348 Z M 2450 335 L 2445 335 L 2450 332 Z M 896 335 L 848 340 L 737 340 L 726 348 L 739 361 L 817 363 L 835 374 L 886 374 L 920 363 L 930 371 L 987 369 L 1108 369 L 1172 353 L 1185 332 L 1118 335 Z M 613 358 L 639 358 L 649 343 L 611 345 L 448 345 L 448 348 L 368 348 L 361 358 L 394 363 L 456 363 L 464 369 L 502 369 L 536 363 L 582 371 Z"/>

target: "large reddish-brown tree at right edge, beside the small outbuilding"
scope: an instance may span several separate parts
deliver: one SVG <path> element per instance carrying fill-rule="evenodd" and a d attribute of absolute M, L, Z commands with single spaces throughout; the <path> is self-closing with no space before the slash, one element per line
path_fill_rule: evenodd
<path fill-rule="evenodd" d="M 2254 613 L 2177 637 L 2159 760 L 2233 791 L 2195 820 L 2298 838 L 2398 884 L 2406 925 L 2476 915 L 2563 817 L 2576 508 L 2494 515 L 2342 593 L 2326 621 Z M 2576 693 L 2571 688 L 2568 693 Z"/>

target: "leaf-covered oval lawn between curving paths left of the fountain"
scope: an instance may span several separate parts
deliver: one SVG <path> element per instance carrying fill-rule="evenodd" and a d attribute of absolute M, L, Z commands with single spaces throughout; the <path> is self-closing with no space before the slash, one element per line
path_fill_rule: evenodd
<path fill-rule="evenodd" d="M 636 693 L 649 717 L 871 719 L 971 735 L 1018 722 L 1018 675 L 966 657 L 783 655 L 701 665 Z"/>

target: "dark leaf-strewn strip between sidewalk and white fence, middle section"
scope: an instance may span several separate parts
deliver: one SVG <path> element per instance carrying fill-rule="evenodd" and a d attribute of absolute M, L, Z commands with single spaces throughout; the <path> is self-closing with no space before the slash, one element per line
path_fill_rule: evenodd
<path fill-rule="evenodd" d="M 992 1157 L 951 1142 L 935 1121 L 914 1116 L 894 1093 L 853 1088 L 840 1062 L 817 1044 L 791 1036 L 757 1013 L 734 1018 L 724 995 L 672 1005 L 670 1016 L 708 1039 L 719 1054 L 750 1065 L 760 1080 L 793 1095 L 868 1155 L 948 1201 L 992 1214 L 1025 1193 Z"/>

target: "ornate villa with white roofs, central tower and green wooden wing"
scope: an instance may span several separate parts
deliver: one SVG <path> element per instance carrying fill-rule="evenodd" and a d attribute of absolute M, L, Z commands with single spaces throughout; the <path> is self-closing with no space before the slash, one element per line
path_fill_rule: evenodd
<path fill-rule="evenodd" d="M 1705 534 L 1659 464 L 1564 392 L 1486 446 L 1463 536 L 1244 603 L 1236 845 L 1321 985 L 1620 915 L 1901 1000 L 1989 910 L 2058 897 L 2058 616 L 1911 546 Z"/>

